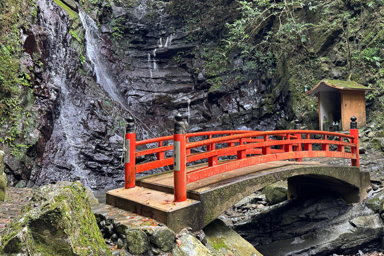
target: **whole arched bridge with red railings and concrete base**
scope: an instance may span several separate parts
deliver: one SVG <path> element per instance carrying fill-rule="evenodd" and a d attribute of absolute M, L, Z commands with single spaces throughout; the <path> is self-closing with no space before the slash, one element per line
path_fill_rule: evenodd
<path fill-rule="evenodd" d="M 108 191 L 106 200 L 175 231 L 200 229 L 249 193 L 285 178 L 290 197 L 299 187 L 326 186 L 346 202 L 358 202 L 366 194 L 369 173 L 358 168 L 357 123 L 354 116 L 351 120 L 350 134 L 300 130 L 297 120 L 294 130 L 185 133 L 176 115 L 173 135 L 135 141 L 128 118 L 125 187 Z M 315 145 L 318 150 L 312 149 Z M 349 158 L 352 167 L 304 163 L 305 157 Z M 140 159 L 147 160 L 136 163 Z M 293 161 L 282 161 L 288 159 Z M 160 167 L 173 170 L 135 179 L 136 173 Z"/>

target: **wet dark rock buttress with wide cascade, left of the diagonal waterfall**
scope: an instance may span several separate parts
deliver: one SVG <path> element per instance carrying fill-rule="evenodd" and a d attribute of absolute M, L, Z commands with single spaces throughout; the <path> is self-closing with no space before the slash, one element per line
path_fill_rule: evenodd
<path fill-rule="evenodd" d="M 41 75 L 34 72 L 39 78 L 35 104 L 41 115 L 32 136 L 36 141 L 25 159 L 6 161 L 9 184 L 20 179 L 27 181 L 21 186 L 81 180 L 98 188 L 121 182 L 117 150 L 126 113 L 96 84 L 93 67 L 80 64 L 82 45 L 73 38 L 73 31 L 83 33 L 78 14 L 64 3 L 36 4 L 36 24 L 26 40 L 32 46 L 26 52 L 43 63 Z"/>

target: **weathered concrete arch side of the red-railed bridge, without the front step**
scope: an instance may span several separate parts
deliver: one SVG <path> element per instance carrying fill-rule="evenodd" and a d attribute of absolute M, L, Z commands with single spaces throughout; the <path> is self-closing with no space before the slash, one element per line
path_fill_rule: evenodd
<path fill-rule="evenodd" d="M 346 203 L 361 202 L 370 184 L 369 172 L 353 166 L 276 161 L 243 169 L 246 173 L 241 176 L 222 179 L 193 191 L 199 203 L 176 219 L 182 220 L 183 226 L 187 223 L 194 230 L 201 229 L 245 196 L 282 179 L 288 180 L 288 196 L 296 196 L 301 188 L 326 189 L 340 194 Z M 169 224 L 178 221 L 169 219 Z M 179 229 L 177 224 L 174 228 Z"/>

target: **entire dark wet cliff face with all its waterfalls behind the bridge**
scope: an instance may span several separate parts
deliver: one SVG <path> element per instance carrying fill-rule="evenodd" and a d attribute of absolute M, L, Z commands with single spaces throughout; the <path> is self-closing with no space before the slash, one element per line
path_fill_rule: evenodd
<path fill-rule="evenodd" d="M 238 53 L 231 55 L 238 72 L 220 86 L 209 81 L 203 46 L 188 40 L 180 18 L 166 13 L 162 1 L 36 4 L 23 61 L 43 63 L 33 70 L 39 117 L 26 157 L 6 159 L 8 184 L 122 184 L 119 155 L 128 113 L 135 117 L 137 140 L 172 134 L 177 112 L 190 132 L 271 130 L 285 128 L 290 118 L 283 109 L 287 90 L 265 94 L 279 78 L 241 70 Z"/>

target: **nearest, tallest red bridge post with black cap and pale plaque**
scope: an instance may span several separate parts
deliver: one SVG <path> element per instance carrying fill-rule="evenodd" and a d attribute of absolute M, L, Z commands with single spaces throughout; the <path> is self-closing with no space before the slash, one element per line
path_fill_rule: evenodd
<path fill-rule="evenodd" d="M 186 201 L 185 123 L 181 114 L 174 116 L 173 195 L 175 202 Z"/>

